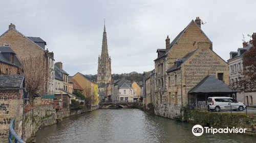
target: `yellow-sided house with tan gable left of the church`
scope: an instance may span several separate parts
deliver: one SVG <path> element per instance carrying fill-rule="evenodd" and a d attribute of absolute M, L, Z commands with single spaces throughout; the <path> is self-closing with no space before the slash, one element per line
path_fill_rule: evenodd
<path fill-rule="evenodd" d="M 84 96 L 91 99 L 91 110 L 97 109 L 99 100 L 98 84 L 96 83 L 96 81 L 81 73 L 76 73 L 71 79 L 74 79 L 79 84 L 79 86 L 83 90 Z"/>

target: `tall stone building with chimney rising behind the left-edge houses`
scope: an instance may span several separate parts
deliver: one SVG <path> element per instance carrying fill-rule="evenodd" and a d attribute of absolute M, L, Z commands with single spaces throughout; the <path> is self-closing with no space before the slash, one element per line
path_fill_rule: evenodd
<path fill-rule="evenodd" d="M 53 53 L 45 49 L 46 42 L 39 37 L 27 37 L 16 30 L 15 25 L 9 25 L 9 29 L 0 36 L 0 45 L 8 45 L 16 53 L 19 60 L 31 57 L 40 57 L 42 65 L 48 71 L 48 83 L 41 92 L 49 92 L 53 89 L 54 59 Z"/>

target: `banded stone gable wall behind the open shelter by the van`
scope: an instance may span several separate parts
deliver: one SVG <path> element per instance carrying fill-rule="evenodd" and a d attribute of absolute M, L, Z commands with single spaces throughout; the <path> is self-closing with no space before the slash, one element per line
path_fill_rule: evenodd
<path fill-rule="evenodd" d="M 223 73 L 225 84 L 229 84 L 228 64 L 208 47 L 207 43 L 202 47 L 199 47 L 199 49 L 181 66 L 183 77 L 182 85 L 185 85 L 183 89 L 183 94 L 185 95 L 183 96 L 184 104 L 187 103 L 187 92 L 195 87 L 207 75 L 212 75 L 218 78 L 218 73 Z"/>

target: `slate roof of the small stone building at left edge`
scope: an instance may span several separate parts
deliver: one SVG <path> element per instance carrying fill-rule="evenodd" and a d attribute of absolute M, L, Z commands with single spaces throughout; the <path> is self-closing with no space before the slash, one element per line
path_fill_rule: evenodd
<path fill-rule="evenodd" d="M 0 88 L 21 88 L 24 79 L 24 75 L 0 75 Z"/>

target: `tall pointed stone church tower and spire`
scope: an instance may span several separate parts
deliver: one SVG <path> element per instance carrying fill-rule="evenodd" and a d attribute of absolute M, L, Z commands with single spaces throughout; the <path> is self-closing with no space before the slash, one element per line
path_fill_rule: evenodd
<path fill-rule="evenodd" d="M 101 55 L 98 58 L 97 83 L 111 82 L 111 58 L 108 52 L 108 43 L 106 40 L 106 28 L 104 25 Z"/>

